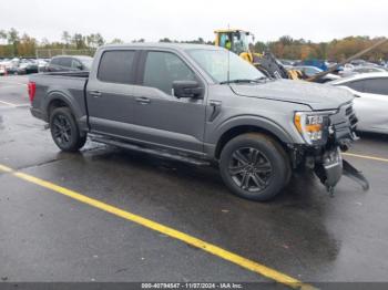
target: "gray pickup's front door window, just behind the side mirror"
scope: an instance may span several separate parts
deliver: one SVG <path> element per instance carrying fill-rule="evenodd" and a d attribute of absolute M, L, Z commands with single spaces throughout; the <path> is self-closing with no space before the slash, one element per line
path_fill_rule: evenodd
<path fill-rule="evenodd" d="M 150 51 L 145 61 L 143 85 L 172 94 L 174 81 L 195 81 L 194 72 L 174 53 Z"/>

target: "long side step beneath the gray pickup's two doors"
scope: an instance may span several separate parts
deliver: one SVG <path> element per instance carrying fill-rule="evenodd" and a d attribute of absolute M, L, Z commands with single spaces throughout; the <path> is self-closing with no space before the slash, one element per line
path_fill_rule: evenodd
<path fill-rule="evenodd" d="M 147 147 L 142 147 L 139 145 L 135 145 L 133 143 L 126 143 L 126 142 L 120 142 L 116 139 L 111 139 L 109 137 L 101 137 L 98 135 L 90 135 L 90 139 L 93 142 L 99 142 L 99 143 L 103 143 L 103 144 L 108 144 L 108 145 L 112 145 L 112 146 L 118 146 L 118 147 L 122 147 L 125 149 L 130 149 L 130 151 L 135 151 L 135 152 L 142 152 L 145 154 L 151 154 L 151 155 L 155 155 L 159 157 L 165 157 L 169 159 L 174 159 L 174 160 L 178 160 L 178 162 L 184 162 L 184 163 L 190 163 L 196 166 L 208 166 L 211 165 L 210 162 L 207 160 L 202 160 L 198 158 L 193 158 L 193 157 L 188 157 L 188 156 L 184 156 L 184 155 L 174 155 L 171 154 L 169 152 L 165 151 L 159 151 L 159 149 L 152 149 L 152 148 L 147 148 Z"/>

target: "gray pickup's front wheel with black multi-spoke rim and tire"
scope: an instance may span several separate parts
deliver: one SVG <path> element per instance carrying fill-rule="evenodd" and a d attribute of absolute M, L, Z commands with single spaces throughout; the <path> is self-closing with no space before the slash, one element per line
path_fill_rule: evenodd
<path fill-rule="evenodd" d="M 266 201 L 288 184 L 292 169 L 286 152 L 276 141 L 264 134 L 247 133 L 224 146 L 219 173 L 235 195 Z"/>

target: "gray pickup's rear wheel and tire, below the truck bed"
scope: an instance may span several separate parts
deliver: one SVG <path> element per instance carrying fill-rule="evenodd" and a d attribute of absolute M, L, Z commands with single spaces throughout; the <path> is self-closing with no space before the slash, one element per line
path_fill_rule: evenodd
<path fill-rule="evenodd" d="M 64 152 L 76 152 L 86 142 L 86 134 L 81 135 L 69 107 L 57 107 L 52 111 L 50 131 L 57 146 Z"/>

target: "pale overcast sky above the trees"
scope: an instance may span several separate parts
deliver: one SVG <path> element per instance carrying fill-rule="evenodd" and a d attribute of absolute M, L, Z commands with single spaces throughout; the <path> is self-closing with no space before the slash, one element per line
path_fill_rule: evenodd
<path fill-rule="evenodd" d="M 100 32 L 106 41 L 213 40 L 215 29 L 228 25 L 259 41 L 388 37 L 388 1 L 0 0 L 0 30 L 16 28 L 39 41 L 60 41 L 62 31 Z"/>

